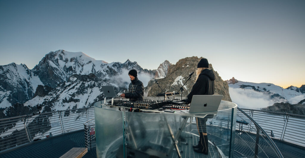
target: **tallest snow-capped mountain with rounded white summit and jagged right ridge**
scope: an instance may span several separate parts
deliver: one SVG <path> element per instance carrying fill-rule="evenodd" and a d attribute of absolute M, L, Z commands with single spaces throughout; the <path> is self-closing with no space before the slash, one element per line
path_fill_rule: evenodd
<path fill-rule="evenodd" d="M 107 63 L 103 60 L 95 60 L 82 52 L 72 53 L 64 50 L 46 54 L 39 64 L 34 67 L 33 71 L 39 76 L 42 83 L 55 88 L 57 84 L 67 82 L 69 77 L 74 74 L 87 75 L 93 73 L 104 80 L 113 80 L 114 76 L 124 73 L 124 70 L 131 69 L 138 70 L 139 74 L 154 74 L 153 71 L 144 70 L 137 62 L 131 62 L 130 60 L 125 63 Z M 119 81 L 115 84 L 120 83 Z"/>

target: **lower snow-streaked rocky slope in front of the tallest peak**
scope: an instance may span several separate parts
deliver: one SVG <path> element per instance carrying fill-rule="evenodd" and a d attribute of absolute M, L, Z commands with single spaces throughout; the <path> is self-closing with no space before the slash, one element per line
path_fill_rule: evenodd
<path fill-rule="evenodd" d="M 111 84 L 110 82 L 102 81 L 93 73 L 72 75 L 67 82 L 62 82 L 56 88 L 49 90 L 47 95 L 38 95 L 23 105 L 33 107 L 39 103 L 43 112 L 90 107 L 103 98 L 101 86 Z M 116 90 L 119 88 L 116 87 Z M 124 91 L 126 88 L 121 90 Z"/>

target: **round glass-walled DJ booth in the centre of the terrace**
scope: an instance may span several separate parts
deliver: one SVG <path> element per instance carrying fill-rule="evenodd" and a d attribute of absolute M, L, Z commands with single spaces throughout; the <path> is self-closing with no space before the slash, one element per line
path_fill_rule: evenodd
<path fill-rule="evenodd" d="M 235 103 L 221 101 L 216 111 L 189 113 L 189 105 L 168 105 L 162 99 L 149 97 L 132 104 L 121 99 L 96 102 L 97 157 L 203 157 L 192 148 L 199 141 L 195 117 L 208 118 L 209 157 L 233 157 Z M 155 103 L 157 108 L 146 108 Z"/>

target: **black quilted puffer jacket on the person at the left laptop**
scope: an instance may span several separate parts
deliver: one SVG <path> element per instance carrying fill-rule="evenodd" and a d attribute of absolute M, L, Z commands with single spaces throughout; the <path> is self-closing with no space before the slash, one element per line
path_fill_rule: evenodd
<path fill-rule="evenodd" d="M 129 98 L 129 101 L 143 100 L 144 86 L 138 77 L 131 81 L 128 90 L 129 93 L 125 93 L 125 98 Z"/>

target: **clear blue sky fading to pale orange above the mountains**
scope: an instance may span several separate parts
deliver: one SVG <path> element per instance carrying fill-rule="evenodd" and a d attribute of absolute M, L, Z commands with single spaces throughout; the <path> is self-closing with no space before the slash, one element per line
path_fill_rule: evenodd
<path fill-rule="evenodd" d="M 50 51 L 96 60 L 205 57 L 223 80 L 305 84 L 305 1 L 0 0 L 0 65 Z"/>

